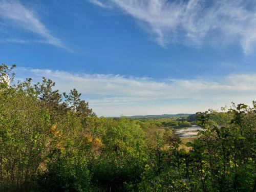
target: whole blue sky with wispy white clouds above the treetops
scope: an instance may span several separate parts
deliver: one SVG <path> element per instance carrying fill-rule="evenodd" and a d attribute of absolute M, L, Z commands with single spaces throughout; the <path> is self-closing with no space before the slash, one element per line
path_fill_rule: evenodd
<path fill-rule="evenodd" d="M 250 103 L 255 61 L 255 1 L 0 0 L 0 62 L 99 116 Z"/>

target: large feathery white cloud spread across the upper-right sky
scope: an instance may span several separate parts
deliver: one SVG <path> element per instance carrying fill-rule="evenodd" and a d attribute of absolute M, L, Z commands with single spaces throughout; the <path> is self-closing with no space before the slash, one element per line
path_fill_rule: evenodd
<path fill-rule="evenodd" d="M 255 48 L 256 2 L 253 0 L 109 0 L 109 3 L 144 24 L 161 46 L 179 42 L 219 47 L 240 42 L 246 55 Z"/>

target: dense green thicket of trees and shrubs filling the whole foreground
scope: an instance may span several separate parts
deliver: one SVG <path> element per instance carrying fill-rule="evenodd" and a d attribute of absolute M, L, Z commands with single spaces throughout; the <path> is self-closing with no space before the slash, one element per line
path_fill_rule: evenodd
<path fill-rule="evenodd" d="M 185 151 L 174 130 L 98 118 L 50 79 L 13 84 L 14 67 L 0 66 L 1 191 L 255 191 L 255 102 L 198 113 Z"/>

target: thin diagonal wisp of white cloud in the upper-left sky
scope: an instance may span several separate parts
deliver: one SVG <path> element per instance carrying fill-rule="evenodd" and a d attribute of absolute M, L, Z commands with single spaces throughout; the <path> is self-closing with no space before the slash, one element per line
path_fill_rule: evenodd
<path fill-rule="evenodd" d="M 4 20 L 5 24 L 11 27 L 22 28 L 36 33 L 43 38 L 41 40 L 29 41 L 43 42 L 56 47 L 68 49 L 59 38 L 53 36 L 47 27 L 40 22 L 33 10 L 26 8 L 18 0 L 0 0 L 0 18 Z M 10 41 L 6 39 L 6 42 L 7 41 L 20 43 L 23 40 Z"/>

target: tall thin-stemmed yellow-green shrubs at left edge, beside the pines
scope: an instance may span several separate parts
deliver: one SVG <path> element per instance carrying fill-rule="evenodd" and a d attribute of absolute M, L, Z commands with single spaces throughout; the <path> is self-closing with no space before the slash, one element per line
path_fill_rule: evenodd
<path fill-rule="evenodd" d="M 0 186 L 27 190 L 53 142 L 50 115 L 29 80 L 1 89 L 0 100 Z"/>

